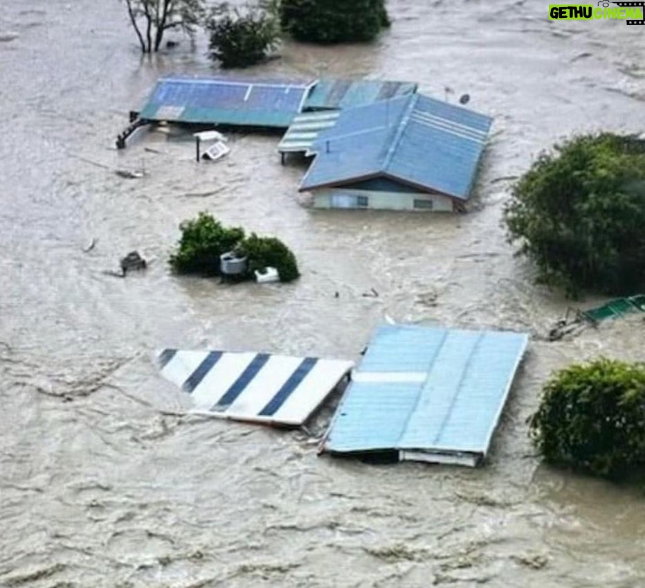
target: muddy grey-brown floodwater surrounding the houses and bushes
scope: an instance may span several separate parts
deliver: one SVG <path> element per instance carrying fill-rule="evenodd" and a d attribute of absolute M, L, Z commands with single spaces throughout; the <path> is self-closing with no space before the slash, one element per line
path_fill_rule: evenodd
<path fill-rule="evenodd" d="M 116 152 L 158 75 L 212 72 L 203 39 L 142 59 L 117 1 L 2 9 L 1 586 L 645 586 L 642 490 L 540 465 L 525 424 L 555 368 L 643 359 L 642 318 L 546 343 L 567 301 L 533 285 L 500 226 L 500 178 L 542 148 L 644 130 L 642 27 L 550 22 L 535 1 L 391 0 L 374 45 L 287 44 L 251 70 L 470 93 L 495 116 L 478 202 L 441 216 L 302 206 L 302 168 L 280 166 L 275 136 L 232 136 L 210 165 L 160 133 Z M 141 166 L 144 179 L 114 174 Z M 302 278 L 172 276 L 177 226 L 201 210 L 280 236 Z M 152 260 L 144 274 L 106 273 L 132 249 Z M 151 359 L 165 346 L 357 358 L 385 315 L 532 333 L 486 467 L 317 457 L 303 433 L 186 416 Z"/>

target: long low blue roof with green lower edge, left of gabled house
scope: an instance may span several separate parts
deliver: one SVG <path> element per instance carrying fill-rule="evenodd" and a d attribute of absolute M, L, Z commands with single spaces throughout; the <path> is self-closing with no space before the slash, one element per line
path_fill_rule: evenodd
<path fill-rule="evenodd" d="M 149 121 L 288 127 L 310 84 L 228 78 L 161 78 L 139 113 Z"/>

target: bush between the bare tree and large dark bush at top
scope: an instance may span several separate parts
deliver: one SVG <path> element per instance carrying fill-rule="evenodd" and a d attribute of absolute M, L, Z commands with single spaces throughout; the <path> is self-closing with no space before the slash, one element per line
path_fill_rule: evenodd
<path fill-rule="evenodd" d="M 210 32 L 210 57 L 222 67 L 247 67 L 261 62 L 278 42 L 278 21 L 257 8 L 231 10 L 224 3 L 206 21 Z"/>

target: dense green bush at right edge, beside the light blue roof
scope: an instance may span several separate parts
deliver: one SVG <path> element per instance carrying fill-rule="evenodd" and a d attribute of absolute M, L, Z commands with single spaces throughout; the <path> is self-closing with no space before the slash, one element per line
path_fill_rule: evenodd
<path fill-rule="evenodd" d="M 645 465 L 645 364 L 598 359 L 556 373 L 529 424 L 549 463 L 626 476 Z"/>

